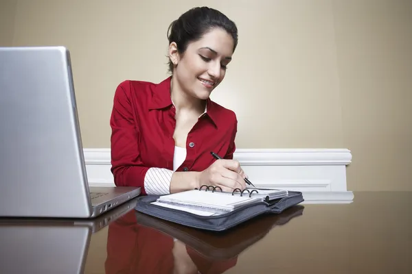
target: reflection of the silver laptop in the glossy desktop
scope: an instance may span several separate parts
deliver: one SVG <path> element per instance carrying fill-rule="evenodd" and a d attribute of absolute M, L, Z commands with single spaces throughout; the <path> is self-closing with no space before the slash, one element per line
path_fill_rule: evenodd
<path fill-rule="evenodd" d="M 85 273 L 95 267 L 87 263 L 93 234 L 136 203 L 131 199 L 93 219 L 0 219 L 0 273 Z"/>

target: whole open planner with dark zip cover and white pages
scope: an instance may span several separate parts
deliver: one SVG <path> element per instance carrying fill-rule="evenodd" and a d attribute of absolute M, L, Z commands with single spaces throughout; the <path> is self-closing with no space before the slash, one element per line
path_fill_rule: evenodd
<path fill-rule="evenodd" d="M 245 188 L 222 192 L 202 186 L 169 195 L 137 198 L 135 210 L 197 229 L 223 231 L 261 214 L 279 214 L 304 201 L 299 191 L 275 188 Z"/>

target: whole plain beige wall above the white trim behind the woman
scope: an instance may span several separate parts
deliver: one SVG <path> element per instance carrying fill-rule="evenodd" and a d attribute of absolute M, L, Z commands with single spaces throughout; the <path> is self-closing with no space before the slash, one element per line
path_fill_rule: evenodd
<path fill-rule="evenodd" d="M 1 0 L 0 45 L 67 46 L 84 147 L 110 147 L 117 84 L 168 76 L 166 30 L 194 5 L 239 27 L 212 95 L 239 148 L 345 147 L 350 190 L 412 190 L 412 1 Z"/>

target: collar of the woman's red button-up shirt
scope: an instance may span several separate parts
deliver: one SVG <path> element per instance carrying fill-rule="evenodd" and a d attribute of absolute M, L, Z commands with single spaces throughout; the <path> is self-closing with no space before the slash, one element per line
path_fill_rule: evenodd
<path fill-rule="evenodd" d="M 153 90 L 153 97 L 152 101 L 149 103 L 149 110 L 159 110 L 162 108 L 168 108 L 171 105 L 173 105 L 172 99 L 170 98 L 170 82 L 171 82 L 172 76 L 164 79 L 162 82 L 156 85 L 155 89 Z M 205 107 L 205 112 L 199 116 L 201 118 L 202 116 L 207 115 L 211 121 L 214 123 L 214 125 L 217 127 L 217 113 L 216 113 L 216 106 L 214 105 L 214 102 L 211 101 L 210 98 L 207 98 L 206 100 L 206 107 Z"/>

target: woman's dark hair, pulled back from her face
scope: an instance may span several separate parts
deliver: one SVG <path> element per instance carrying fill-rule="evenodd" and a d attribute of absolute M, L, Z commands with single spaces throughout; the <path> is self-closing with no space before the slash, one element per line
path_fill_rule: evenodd
<path fill-rule="evenodd" d="M 213 8 L 192 8 L 170 23 L 168 28 L 169 45 L 176 42 L 180 54 L 187 49 L 189 42 L 202 38 L 203 34 L 215 27 L 225 29 L 233 38 L 233 52 L 238 45 L 238 28 L 225 14 Z M 169 33 L 170 32 L 170 33 Z M 173 71 L 173 63 L 169 59 L 169 71 Z"/>

